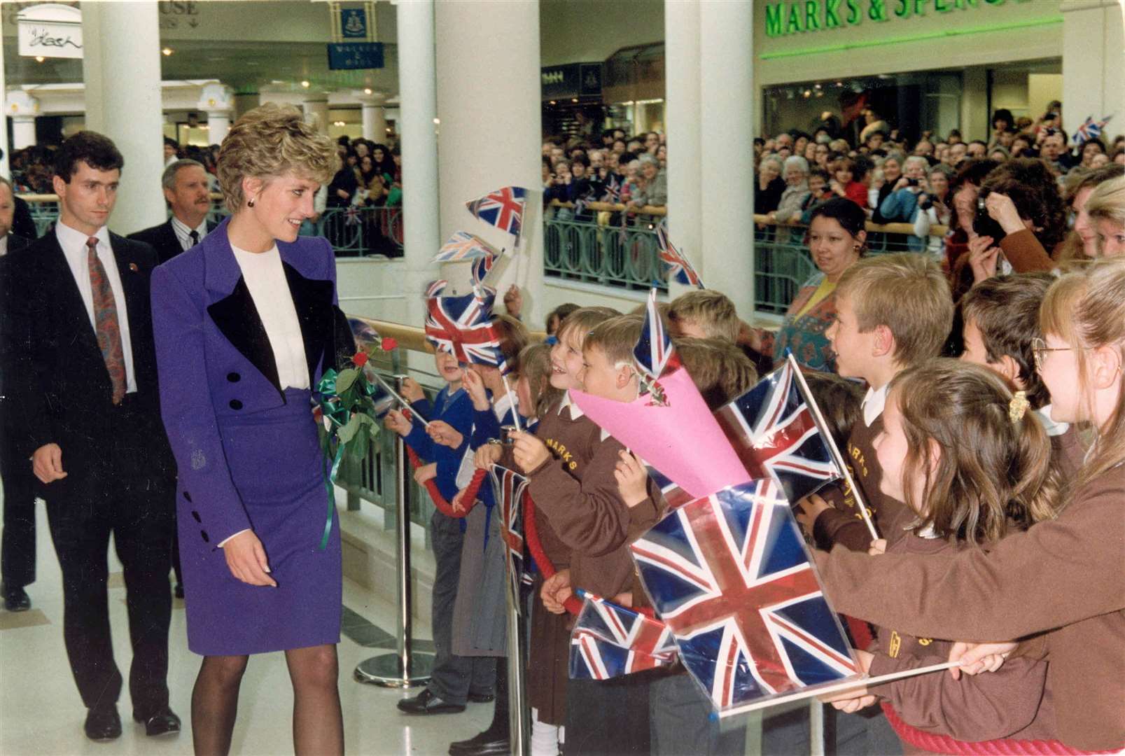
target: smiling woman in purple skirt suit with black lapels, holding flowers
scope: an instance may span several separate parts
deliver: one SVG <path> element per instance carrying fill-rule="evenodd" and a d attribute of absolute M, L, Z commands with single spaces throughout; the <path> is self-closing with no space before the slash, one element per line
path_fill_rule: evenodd
<path fill-rule="evenodd" d="M 335 145 L 295 108 L 231 128 L 218 180 L 232 216 L 153 272 L 161 413 L 179 467 L 177 506 L 197 754 L 226 754 L 250 654 L 284 650 L 298 754 L 342 754 L 336 686 L 340 531 L 310 399 L 354 346 L 335 259 L 297 238 Z"/>

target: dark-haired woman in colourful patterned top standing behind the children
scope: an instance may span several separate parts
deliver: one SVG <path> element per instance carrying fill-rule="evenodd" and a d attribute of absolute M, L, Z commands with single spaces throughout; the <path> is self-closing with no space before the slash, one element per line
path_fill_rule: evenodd
<path fill-rule="evenodd" d="M 836 320 L 836 281 L 863 254 L 866 220 L 858 205 L 842 197 L 812 212 L 809 252 L 819 271 L 796 292 L 776 334 L 764 328 L 742 327 L 746 345 L 764 358 L 773 358 L 775 363 L 784 360 L 785 350 L 791 349 L 802 367 L 835 371 L 825 331 Z"/>

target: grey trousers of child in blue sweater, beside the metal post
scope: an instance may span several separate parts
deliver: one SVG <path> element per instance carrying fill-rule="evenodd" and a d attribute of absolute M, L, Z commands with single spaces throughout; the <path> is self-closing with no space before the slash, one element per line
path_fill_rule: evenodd
<path fill-rule="evenodd" d="M 442 701 L 464 704 L 469 693 L 492 693 L 496 683 L 496 659 L 453 654 L 453 605 L 461 574 L 461 521 L 434 511 L 430 518 L 435 572 L 431 627 L 435 658 L 430 692 Z"/>

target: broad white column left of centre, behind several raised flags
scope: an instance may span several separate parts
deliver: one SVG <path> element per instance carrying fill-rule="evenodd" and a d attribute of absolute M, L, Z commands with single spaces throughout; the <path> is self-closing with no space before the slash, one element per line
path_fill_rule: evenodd
<path fill-rule="evenodd" d="M 439 0 L 434 18 L 442 238 L 464 228 L 506 248 L 497 289 L 518 284 L 523 320 L 538 325 L 543 314 L 539 2 Z M 467 199 L 506 186 L 532 190 L 516 256 L 510 234 L 465 208 Z M 468 272 L 456 280 L 467 282 Z"/>

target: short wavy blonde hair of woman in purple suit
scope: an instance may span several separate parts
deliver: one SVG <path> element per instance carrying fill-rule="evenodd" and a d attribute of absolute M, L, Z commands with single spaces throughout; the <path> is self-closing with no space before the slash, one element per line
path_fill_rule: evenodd
<path fill-rule="evenodd" d="M 227 209 L 237 213 L 246 200 L 245 178 L 269 181 L 292 172 L 323 184 L 335 176 L 339 163 L 335 144 L 306 124 L 300 110 L 267 102 L 231 127 L 219 148 L 216 174 Z"/>

